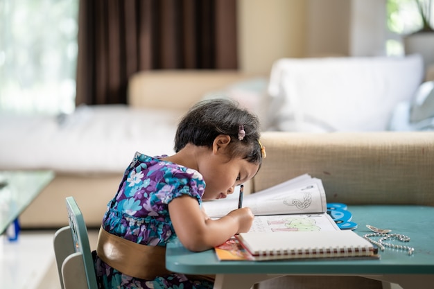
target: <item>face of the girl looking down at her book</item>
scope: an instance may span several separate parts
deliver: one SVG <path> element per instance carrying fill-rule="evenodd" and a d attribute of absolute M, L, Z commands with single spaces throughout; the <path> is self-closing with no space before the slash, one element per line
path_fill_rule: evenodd
<path fill-rule="evenodd" d="M 229 159 L 227 155 L 217 154 L 207 157 L 199 167 L 199 172 L 207 186 L 203 200 L 224 199 L 234 193 L 235 186 L 252 179 L 259 170 L 259 164 L 245 159 Z"/>

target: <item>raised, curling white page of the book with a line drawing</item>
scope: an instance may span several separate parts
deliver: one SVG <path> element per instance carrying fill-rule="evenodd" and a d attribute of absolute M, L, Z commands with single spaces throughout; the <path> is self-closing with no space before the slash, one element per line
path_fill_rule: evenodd
<path fill-rule="evenodd" d="M 210 218 L 220 218 L 237 209 L 238 200 L 214 200 L 202 203 Z M 245 195 L 243 207 L 255 216 L 290 213 L 324 213 L 327 202 L 320 179 L 302 175 L 271 188 Z"/>

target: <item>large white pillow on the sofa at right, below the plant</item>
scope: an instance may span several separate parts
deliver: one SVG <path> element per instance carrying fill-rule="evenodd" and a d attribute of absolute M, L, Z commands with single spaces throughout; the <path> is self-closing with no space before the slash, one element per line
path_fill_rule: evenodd
<path fill-rule="evenodd" d="M 387 130 L 392 110 L 413 96 L 423 71 L 420 55 L 278 60 L 268 87 L 272 129 Z"/>

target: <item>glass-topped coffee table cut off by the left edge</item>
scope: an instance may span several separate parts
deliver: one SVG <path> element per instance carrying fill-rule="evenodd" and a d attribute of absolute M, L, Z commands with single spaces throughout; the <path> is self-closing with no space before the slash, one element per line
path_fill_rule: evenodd
<path fill-rule="evenodd" d="M 0 171 L 0 235 L 17 237 L 19 215 L 53 178 L 51 170 Z"/>

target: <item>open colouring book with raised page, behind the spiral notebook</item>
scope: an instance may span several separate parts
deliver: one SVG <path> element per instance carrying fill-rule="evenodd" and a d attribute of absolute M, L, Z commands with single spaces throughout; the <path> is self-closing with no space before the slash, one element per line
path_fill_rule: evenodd
<path fill-rule="evenodd" d="M 210 218 L 220 218 L 237 208 L 235 199 L 202 203 Z M 327 214 L 321 179 L 301 175 L 263 191 L 245 195 L 254 222 L 250 231 L 335 231 L 338 226 Z"/>

